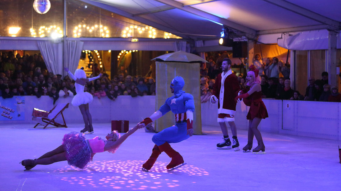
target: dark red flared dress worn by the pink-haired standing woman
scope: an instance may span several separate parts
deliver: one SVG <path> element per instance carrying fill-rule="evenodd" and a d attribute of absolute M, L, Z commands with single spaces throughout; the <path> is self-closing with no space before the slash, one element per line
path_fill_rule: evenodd
<path fill-rule="evenodd" d="M 266 110 L 266 107 L 264 105 L 264 102 L 262 101 L 262 92 L 261 91 L 255 91 L 249 96 L 251 100 L 249 113 L 246 116 L 248 120 L 253 119 L 255 117 L 260 119 L 265 119 L 268 116 L 268 111 Z"/>

